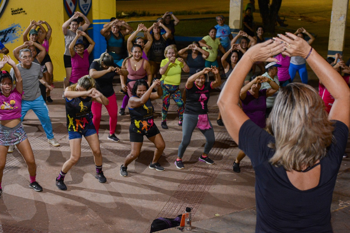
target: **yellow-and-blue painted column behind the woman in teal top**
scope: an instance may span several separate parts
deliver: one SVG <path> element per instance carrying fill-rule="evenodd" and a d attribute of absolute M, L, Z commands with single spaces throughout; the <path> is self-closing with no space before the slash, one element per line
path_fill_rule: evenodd
<path fill-rule="evenodd" d="M 103 24 L 110 22 L 111 17 L 116 17 L 116 0 L 92 0 L 92 35 L 96 43 L 93 49 L 93 58 L 99 58 L 106 51 L 105 37 L 100 33 Z"/>

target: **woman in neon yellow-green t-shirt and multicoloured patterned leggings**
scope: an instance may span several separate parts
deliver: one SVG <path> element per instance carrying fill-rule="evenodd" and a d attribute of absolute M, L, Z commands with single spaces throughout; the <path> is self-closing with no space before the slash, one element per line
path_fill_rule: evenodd
<path fill-rule="evenodd" d="M 163 108 L 162 108 L 162 123 L 163 129 L 168 129 L 167 126 L 167 115 L 168 108 L 170 104 L 170 96 L 173 98 L 177 107 L 179 108 L 177 112 L 179 113 L 179 123 L 182 126 L 183 120 L 183 100 L 179 85 L 181 82 L 181 71 L 186 73 L 190 72 L 190 68 L 182 58 L 176 58 L 177 49 L 175 45 L 169 45 L 165 48 L 164 56 L 166 59 L 162 60 L 160 64 L 159 73 L 162 75 L 161 86 L 163 89 Z"/>

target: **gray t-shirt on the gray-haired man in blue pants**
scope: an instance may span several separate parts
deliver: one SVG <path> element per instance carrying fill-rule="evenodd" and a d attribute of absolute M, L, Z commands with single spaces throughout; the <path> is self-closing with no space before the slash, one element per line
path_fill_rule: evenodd
<path fill-rule="evenodd" d="M 29 69 L 23 68 L 21 64 L 17 64 L 18 69 L 20 70 L 23 82 L 23 100 L 35 100 L 41 96 L 38 80 L 43 77 L 41 73 L 41 66 L 34 62 L 31 63 Z M 16 80 L 15 72 L 13 68 L 10 70 L 10 75 L 13 80 Z"/>

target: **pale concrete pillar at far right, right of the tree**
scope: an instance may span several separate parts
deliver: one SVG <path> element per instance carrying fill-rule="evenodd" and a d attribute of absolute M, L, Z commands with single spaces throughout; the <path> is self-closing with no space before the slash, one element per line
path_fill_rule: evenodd
<path fill-rule="evenodd" d="M 343 54 L 348 5 L 349 0 L 333 0 L 328 41 L 328 56 L 330 57 L 336 53 Z"/>

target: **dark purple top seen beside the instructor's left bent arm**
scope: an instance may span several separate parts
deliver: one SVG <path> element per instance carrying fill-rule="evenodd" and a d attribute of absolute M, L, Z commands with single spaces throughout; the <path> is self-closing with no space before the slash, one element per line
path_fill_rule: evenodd
<path fill-rule="evenodd" d="M 260 128 L 265 128 L 266 126 L 266 90 L 259 90 L 258 98 L 255 98 L 247 91 L 247 96 L 244 100 L 241 100 L 244 113 Z"/>

